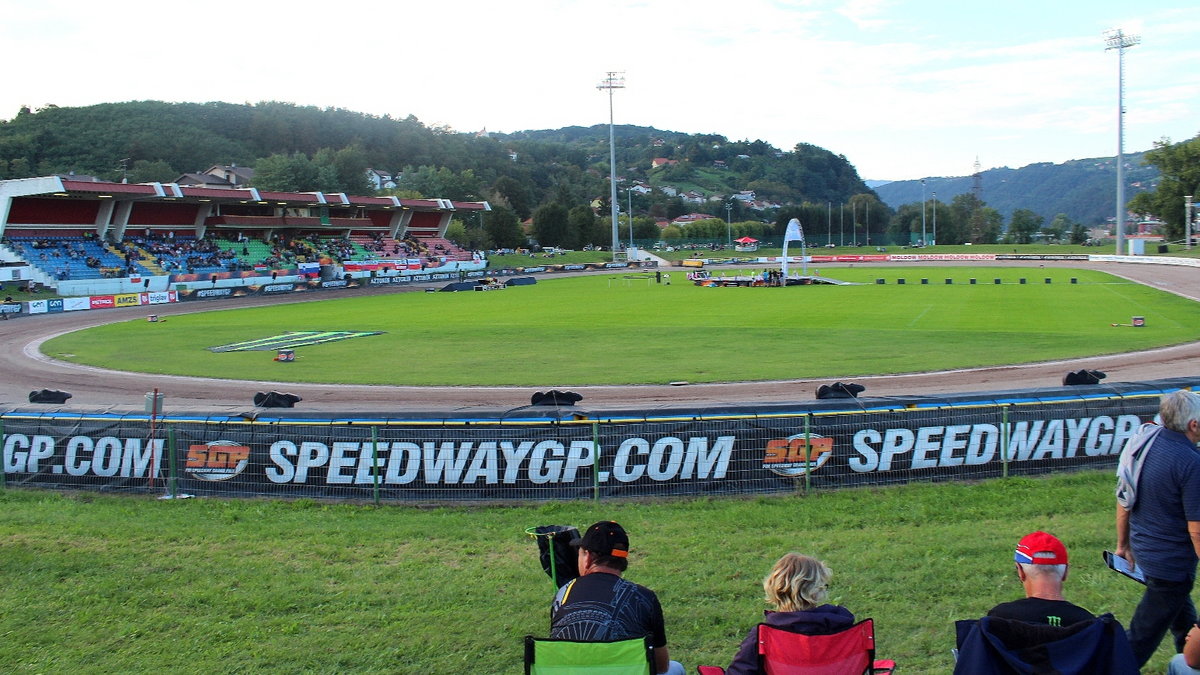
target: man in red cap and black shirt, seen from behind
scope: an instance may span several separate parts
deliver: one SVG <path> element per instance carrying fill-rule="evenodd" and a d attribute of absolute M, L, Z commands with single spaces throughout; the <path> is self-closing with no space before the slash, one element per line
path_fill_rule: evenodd
<path fill-rule="evenodd" d="M 1015 619 L 1045 626 L 1070 626 L 1096 616 L 1062 597 L 1067 580 L 1067 546 L 1046 532 L 1026 534 L 1016 544 L 1016 578 L 1025 586 L 1025 598 L 1001 603 L 988 616 Z"/>

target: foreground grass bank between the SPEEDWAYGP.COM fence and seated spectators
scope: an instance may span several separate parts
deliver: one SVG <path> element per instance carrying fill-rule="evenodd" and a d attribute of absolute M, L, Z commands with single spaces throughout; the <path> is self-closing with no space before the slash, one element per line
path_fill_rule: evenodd
<path fill-rule="evenodd" d="M 810 496 L 517 507 L 0 491 L 0 663 L 19 673 L 521 671 L 550 579 L 532 525 L 630 531 L 629 578 L 656 590 L 672 656 L 726 664 L 774 560 L 834 571 L 833 602 L 872 616 L 882 657 L 947 673 L 953 621 L 1020 597 L 1012 550 L 1060 534 L 1068 598 L 1128 623 L 1140 586 L 1108 571 L 1111 473 Z M 1168 647 L 1146 669 L 1162 671 Z"/>

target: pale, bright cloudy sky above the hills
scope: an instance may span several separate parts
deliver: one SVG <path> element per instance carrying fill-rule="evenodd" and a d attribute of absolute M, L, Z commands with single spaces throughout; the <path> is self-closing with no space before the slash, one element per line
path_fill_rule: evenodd
<path fill-rule="evenodd" d="M 1200 11 L 1177 0 L 4 0 L 22 106 L 289 101 L 455 131 L 610 121 L 956 177 L 1200 133 Z"/>

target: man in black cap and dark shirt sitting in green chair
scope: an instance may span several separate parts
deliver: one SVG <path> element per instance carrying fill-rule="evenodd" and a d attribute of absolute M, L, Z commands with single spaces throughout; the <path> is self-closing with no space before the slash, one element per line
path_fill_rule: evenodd
<path fill-rule="evenodd" d="M 571 542 L 578 549 L 580 577 L 554 596 L 550 637 L 562 640 L 625 640 L 649 635 L 655 671 L 684 675 L 667 655 L 662 607 L 654 591 L 622 579 L 629 565 L 629 536 L 611 520 L 601 520 Z"/>

